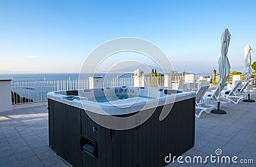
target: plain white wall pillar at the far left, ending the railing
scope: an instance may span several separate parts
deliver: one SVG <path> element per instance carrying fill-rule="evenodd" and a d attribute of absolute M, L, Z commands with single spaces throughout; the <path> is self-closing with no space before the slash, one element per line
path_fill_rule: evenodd
<path fill-rule="evenodd" d="M 0 79 L 0 112 L 12 110 L 11 80 Z"/>

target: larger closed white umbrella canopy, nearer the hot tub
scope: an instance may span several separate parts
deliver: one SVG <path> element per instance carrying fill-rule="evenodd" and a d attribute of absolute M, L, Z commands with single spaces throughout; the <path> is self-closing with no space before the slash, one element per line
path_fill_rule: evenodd
<path fill-rule="evenodd" d="M 230 36 L 228 29 L 221 34 L 221 56 L 218 60 L 219 84 L 227 82 L 230 73 L 230 62 L 227 57 Z"/>

